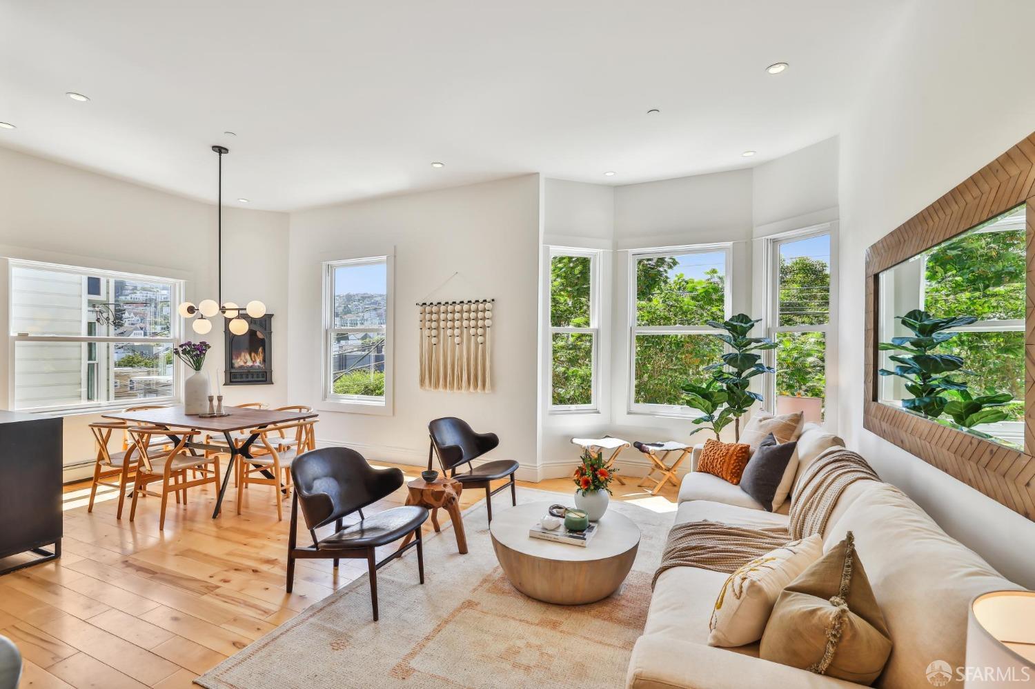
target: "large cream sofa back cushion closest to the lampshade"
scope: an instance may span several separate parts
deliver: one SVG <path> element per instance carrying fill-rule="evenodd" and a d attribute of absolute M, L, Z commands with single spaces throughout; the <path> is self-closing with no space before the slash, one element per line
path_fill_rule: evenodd
<path fill-rule="evenodd" d="M 876 686 L 923 686 L 923 670 L 931 661 L 944 660 L 950 667 L 966 664 L 971 600 L 987 591 L 1021 587 L 951 539 L 894 486 L 859 483 L 870 485 L 858 489 L 854 502 L 830 522 L 825 547 L 851 531 L 865 559 L 893 642 Z"/>

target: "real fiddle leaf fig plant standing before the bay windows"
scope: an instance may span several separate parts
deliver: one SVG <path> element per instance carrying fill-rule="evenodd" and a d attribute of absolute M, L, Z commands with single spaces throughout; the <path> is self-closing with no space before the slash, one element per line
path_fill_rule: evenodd
<path fill-rule="evenodd" d="M 750 410 L 762 395 L 750 390 L 751 379 L 762 373 L 772 373 L 774 369 L 762 362 L 758 352 L 776 349 L 776 343 L 768 337 L 750 337 L 748 333 L 761 319 L 751 319 L 746 313 L 737 313 L 727 321 L 708 321 L 712 328 L 724 330 L 717 335 L 726 342 L 730 352 L 722 355 L 722 361 L 705 366 L 711 380 L 705 385 L 687 381 L 683 386 L 683 399 L 688 407 L 704 412 L 693 419 L 701 427 L 690 435 L 710 429 L 719 438 L 722 428 L 731 422 L 734 438 L 740 441 L 740 417 Z"/>

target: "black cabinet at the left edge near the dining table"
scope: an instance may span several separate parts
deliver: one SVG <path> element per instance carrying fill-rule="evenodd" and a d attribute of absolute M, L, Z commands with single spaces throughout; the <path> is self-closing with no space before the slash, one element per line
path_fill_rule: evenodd
<path fill-rule="evenodd" d="M 0 574 L 61 557 L 61 423 L 0 411 L 0 558 L 39 556 Z"/>

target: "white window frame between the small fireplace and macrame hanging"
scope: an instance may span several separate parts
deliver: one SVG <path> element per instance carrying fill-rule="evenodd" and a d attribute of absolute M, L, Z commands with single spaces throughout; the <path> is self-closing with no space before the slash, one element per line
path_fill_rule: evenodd
<path fill-rule="evenodd" d="M 392 413 L 392 381 L 394 378 L 394 270 L 393 257 L 373 256 L 359 259 L 345 259 L 342 261 L 325 261 L 323 263 L 323 348 L 321 364 L 321 408 L 324 411 L 351 412 L 358 414 L 385 414 Z M 371 266 L 384 264 L 385 266 L 385 325 L 384 326 L 360 326 L 354 328 L 334 327 L 334 270 L 346 266 Z M 382 397 L 373 395 L 343 395 L 333 391 L 331 377 L 330 356 L 333 348 L 334 336 L 338 333 L 355 334 L 365 332 L 380 332 L 385 336 L 385 393 Z"/>

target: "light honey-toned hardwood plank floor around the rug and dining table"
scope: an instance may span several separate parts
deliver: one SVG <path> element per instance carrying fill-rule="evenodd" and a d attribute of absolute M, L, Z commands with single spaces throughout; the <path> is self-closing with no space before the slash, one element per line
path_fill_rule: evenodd
<path fill-rule="evenodd" d="M 407 480 L 420 472 L 400 469 Z M 647 500 L 661 509 L 675 502 L 671 486 L 652 498 L 634 483 L 613 484 L 615 499 Z M 567 478 L 519 484 L 573 490 Z M 227 491 L 223 513 L 212 519 L 214 491 L 191 488 L 185 506 L 170 500 L 159 532 L 156 498 L 142 499 L 130 523 L 128 508 L 115 518 L 114 489 L 98 491 L 88 514 L 89 483 L 66 486 L 61 559 L 0 577 L 0 634 L 24 656 L 20 686 L 186 689 L 227 656 L 365 577 L 366 565 L 357 560 L 343 560 L 337 572 L 329 560 L 299 560 L 294 593 L 285 593 L 289 503 L 278 522 L 271 488 L 250 486 L 240 515 L 235 495 Z M 463 493 L 463 507 L 483 495 Z M 405 500 L 404 486 L 369 509 Z M 496 496 L 494 504 L 508 505 L 509 496 Z"/>

